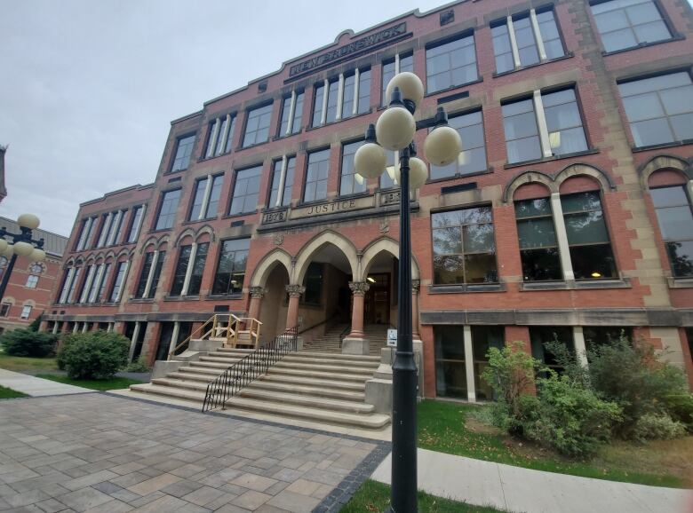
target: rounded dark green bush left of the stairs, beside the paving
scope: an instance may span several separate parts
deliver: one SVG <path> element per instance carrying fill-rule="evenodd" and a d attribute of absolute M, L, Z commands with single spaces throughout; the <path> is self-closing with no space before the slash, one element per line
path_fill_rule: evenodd
<path fill-rule="evenodd" d="M 130 341 L 117 333 L 70 334 L 58 351 L 59 367 L 74 379 L 108 379 L 125 366 L 129 349 Z"/>

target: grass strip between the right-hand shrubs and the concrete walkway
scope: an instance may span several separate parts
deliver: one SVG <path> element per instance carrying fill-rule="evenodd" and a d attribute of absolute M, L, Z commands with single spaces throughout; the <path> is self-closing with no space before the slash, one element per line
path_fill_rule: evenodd
<path fill-rule="evenodd" d="M 693 475 L 693 437 L 646 445 L 615 441 L 605 446 L 591 462 L 575 462 L 482 424 L 469 415 L 478 407 L 484 406 L 422 401 L 418 405 L 418 446 L 574 476 L 642 485 L 681 488 L 691 485 L 686 476 Z"/>

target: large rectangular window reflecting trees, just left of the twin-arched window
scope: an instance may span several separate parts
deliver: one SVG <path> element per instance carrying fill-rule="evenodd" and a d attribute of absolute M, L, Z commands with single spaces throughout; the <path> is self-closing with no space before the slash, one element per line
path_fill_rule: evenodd
<path fill-rule="evenodd" d="M 490 207 L 431 215 L 434 283 L 497 283 L 496 242 Z"/>

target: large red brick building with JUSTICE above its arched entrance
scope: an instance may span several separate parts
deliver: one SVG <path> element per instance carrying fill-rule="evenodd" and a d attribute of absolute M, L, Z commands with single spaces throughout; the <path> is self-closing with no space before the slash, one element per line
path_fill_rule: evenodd
<path fill-rule="evenodd" d="M 155 181 L 81 205 L 47 328 L 165 359 L 213 312 L 370 339 L 396 327 L 395 155 L 353 157 L 398 71 L 458 162 L 412 203 L 426 396 L 487 399 L 488 347 L 625 333 L 693 383 L 693 15 L 686 0 L 462 1 L 283 63 L 171 122 Z M 426 129 L 418 130 L 420 147 Z"/>

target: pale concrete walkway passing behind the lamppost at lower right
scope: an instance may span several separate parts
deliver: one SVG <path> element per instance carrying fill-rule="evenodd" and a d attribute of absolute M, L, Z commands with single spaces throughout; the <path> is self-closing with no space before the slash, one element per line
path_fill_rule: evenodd
<path fill-rule="evenodd" d="M 390 483 L 391 454 L 373 479 Z M 418 449 L 418 487 L 439 497 L 522 513 L 688 513 L 693 491 L 617 483 Z"/>

